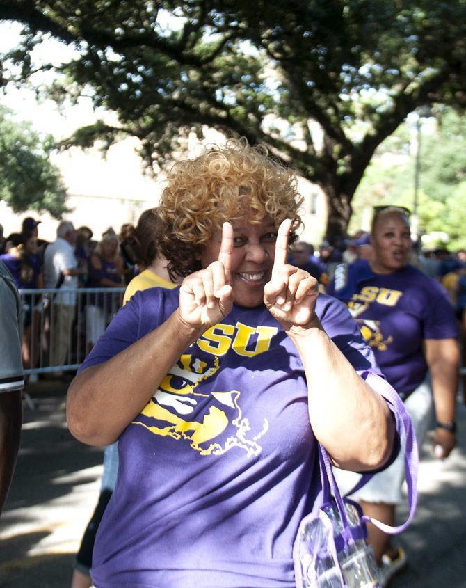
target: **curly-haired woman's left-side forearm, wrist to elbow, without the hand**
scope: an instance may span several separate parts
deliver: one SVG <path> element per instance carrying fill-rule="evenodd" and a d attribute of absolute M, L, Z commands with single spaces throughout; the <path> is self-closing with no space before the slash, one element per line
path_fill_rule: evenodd
<path fill-rule="evenodd" d="M 89 445 L 109 445 L 140 413 L 182 352 L 202 333 L 173 314 L 106 362 L 88 367 L 67 394 L 71 433 Z"/>

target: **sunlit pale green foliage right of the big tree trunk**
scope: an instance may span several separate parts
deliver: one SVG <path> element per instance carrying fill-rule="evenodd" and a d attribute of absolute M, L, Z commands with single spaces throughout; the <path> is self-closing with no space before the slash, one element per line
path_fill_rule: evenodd
<path fill-rule="evenodd" d="M 417 214 L 421 233 L 444 232 L 451 249 L 466 246 L 466 117 L 440 109 L 421 122 Z M 415 127 L 401 125 L 376 152 L 358 187 L 350 229 L 362 223 L 373 205 L 414 207 Z"/>

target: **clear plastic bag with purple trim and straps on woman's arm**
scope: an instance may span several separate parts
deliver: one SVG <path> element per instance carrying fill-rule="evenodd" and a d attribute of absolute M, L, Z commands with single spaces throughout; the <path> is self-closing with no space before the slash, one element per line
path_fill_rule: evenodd
<path fill-rule="evenodd" d="M 322 493 L 314 511 L 300 523 L 294 543 L 293 558 L 297 588 L 380 588 L 375 558 L 367 545 L 365 521 L 371 521 L 385 533 L 401 533 L 412 521 L 417 503 L 417 443 L 412 422 L 399 395 L 389 383 L 368 372 L 365 379 L 378 390 L 396 413 L 397 429 L 405 452 L 408 485 L 408 518 L 402 525 L 391 527 L 375 518 L 362 515 L 356 502 L 339 493 L 329 456 L 317 444 Z M 362 475 L 351 494 L 369 481 Z"/>

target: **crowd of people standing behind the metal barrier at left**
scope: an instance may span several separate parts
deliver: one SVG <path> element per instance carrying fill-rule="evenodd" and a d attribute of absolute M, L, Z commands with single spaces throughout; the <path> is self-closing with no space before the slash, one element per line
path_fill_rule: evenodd
<path fill-rule="evenodd" d="M 27 217 L 21 232 L 0 238 L 0 260 L 17 289 L 30 291 L 22 295 L 24 369 L 82 361 L 104 333 L 122 296 L 111 291 L 79 296 L 79 289 L 121 289 L 140 271 L 138 260 L 128 253 L 133 225 L 123 225 L 120 235 L 109 228 L 100 241 L 93 241 L 90 228 L 75 229 L 63 220 L 51 243 L 38 238 L 39 225 L 39 220 Z M 40 289 L 55 292 L 31 292 Z M 75 343 L 77 330 L 83 338 L 81 353 Z"/>

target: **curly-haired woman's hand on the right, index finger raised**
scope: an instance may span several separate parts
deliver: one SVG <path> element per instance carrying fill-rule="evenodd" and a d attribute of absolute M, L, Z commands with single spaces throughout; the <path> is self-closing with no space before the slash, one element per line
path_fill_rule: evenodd
<path fill-rule="evenodd" d="M 287 264 L 290 230 L 291 220 L 287 218 L 278 229 L 272 278 L 264 287 L 264 304 L 285 331 L 319 324 L 314 312 L 319 295 L 317 280 L 307 271 Z"/>

